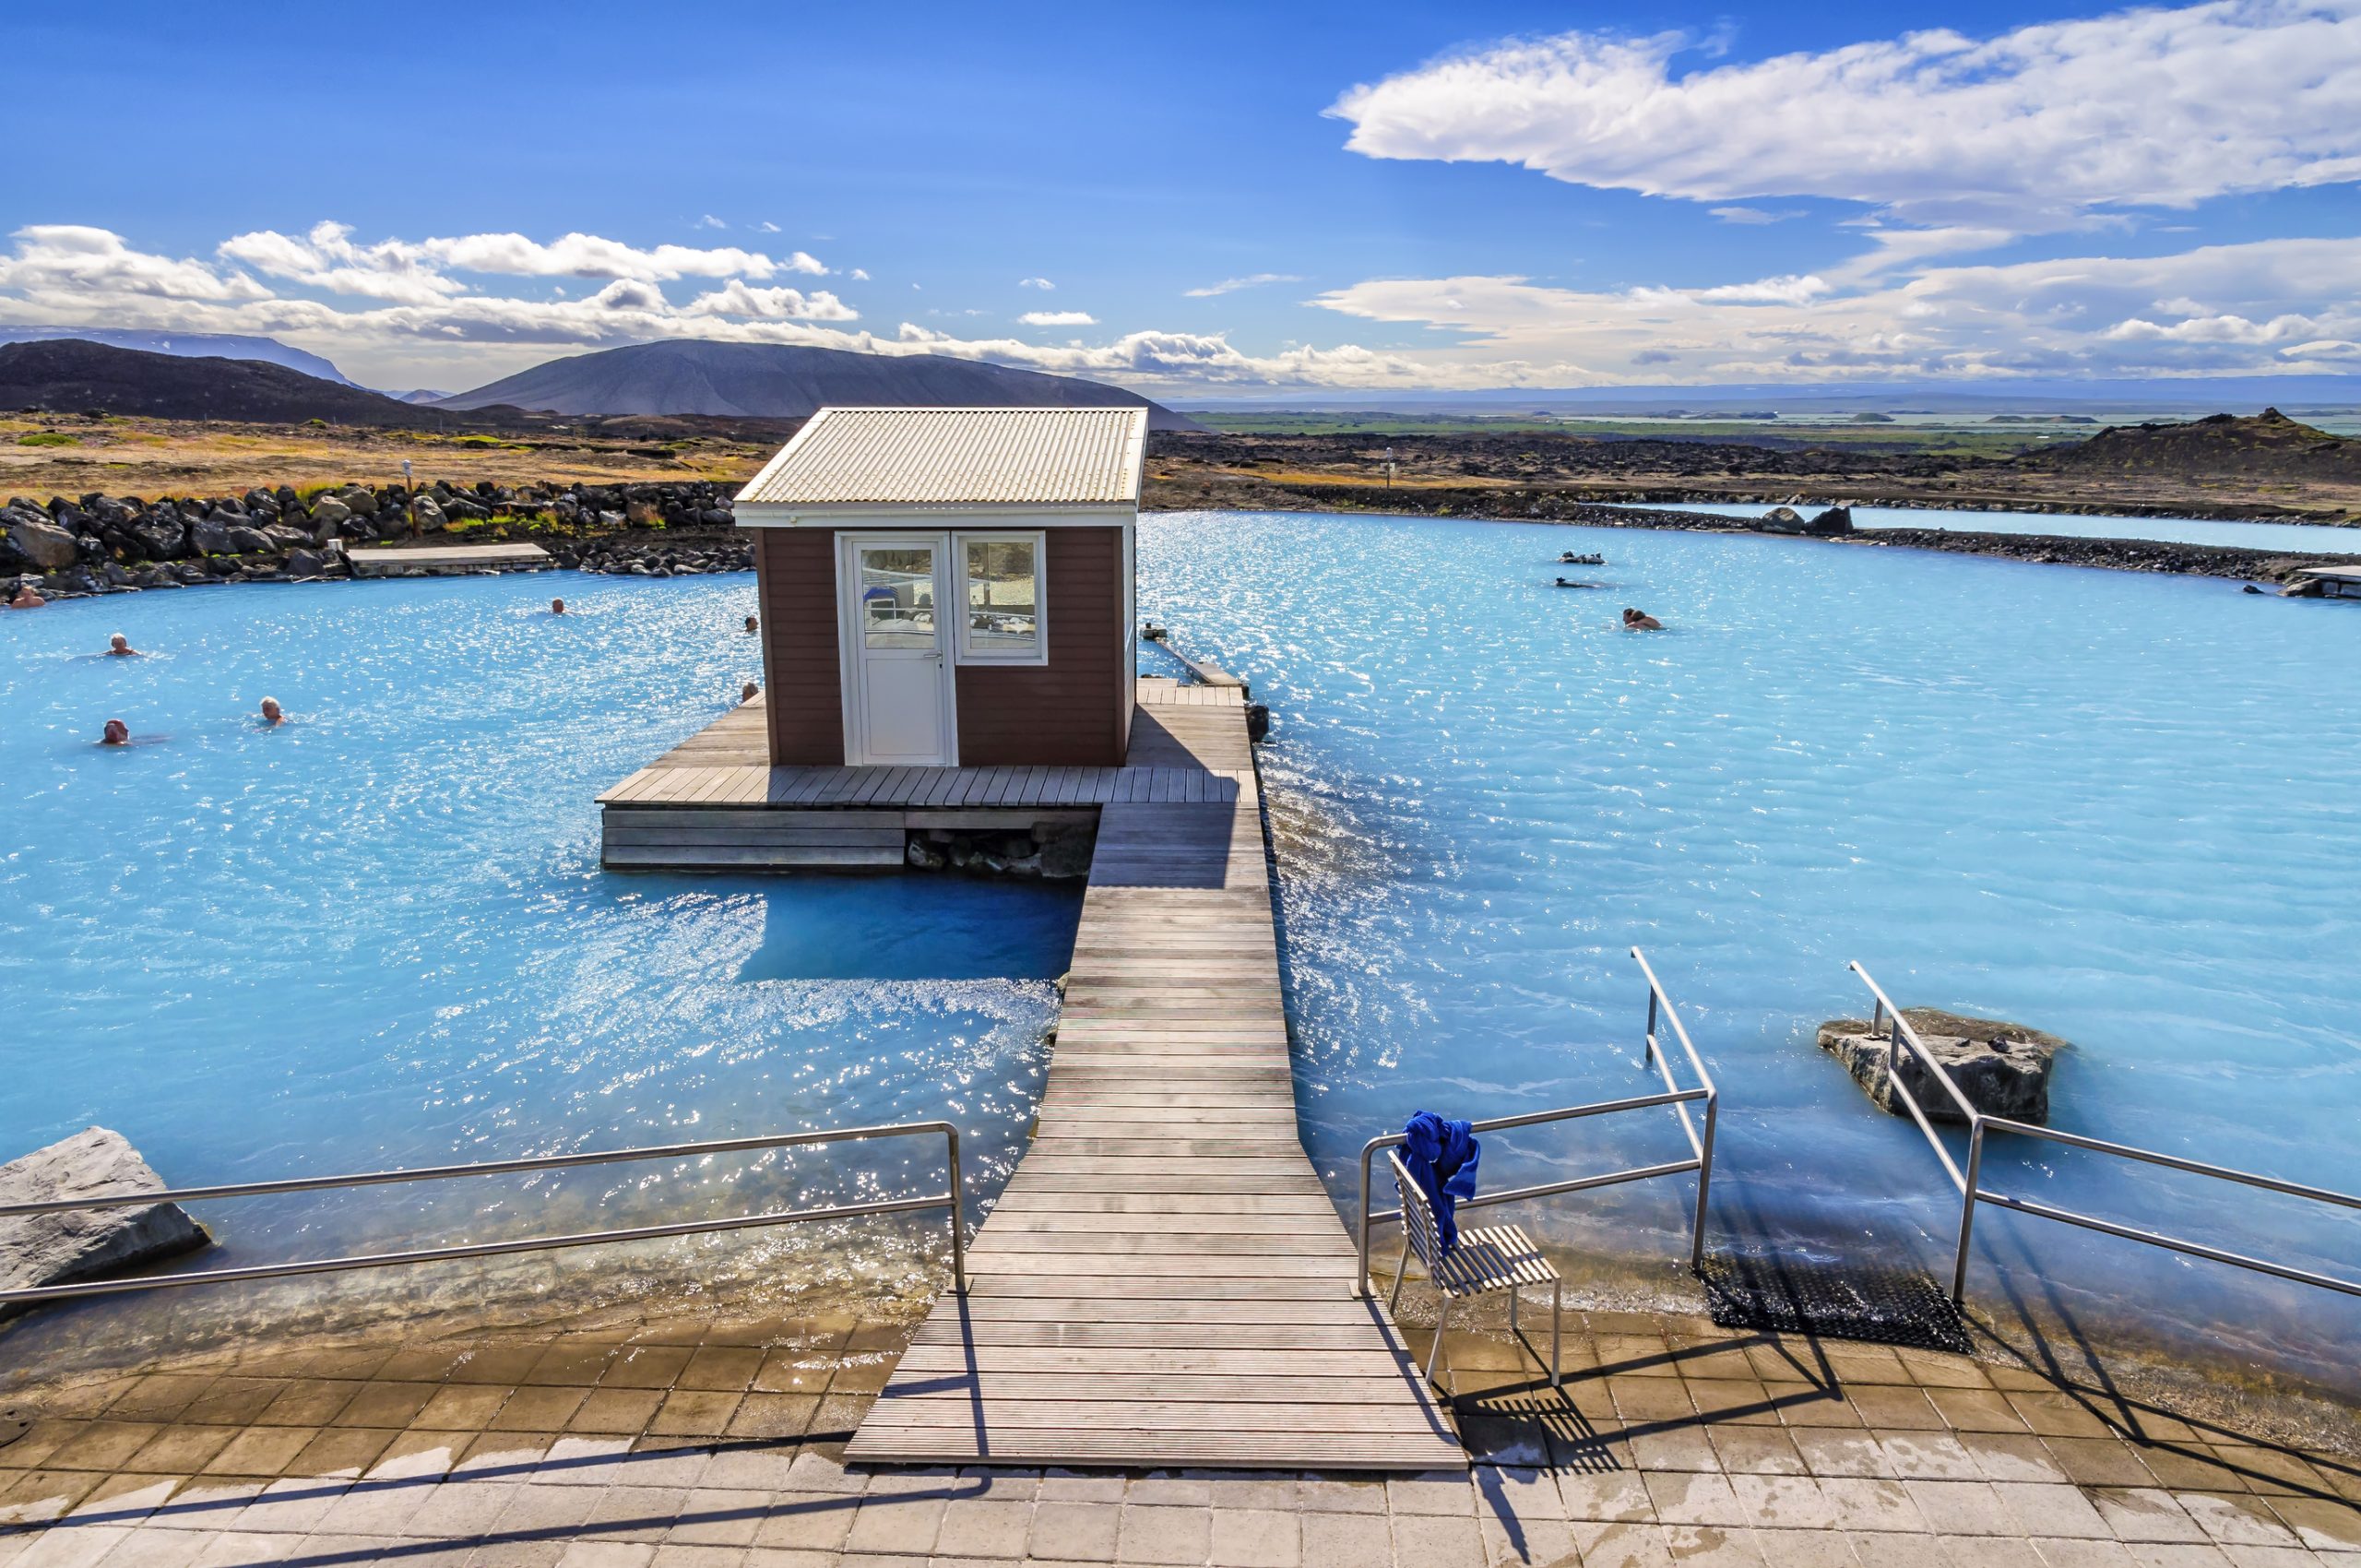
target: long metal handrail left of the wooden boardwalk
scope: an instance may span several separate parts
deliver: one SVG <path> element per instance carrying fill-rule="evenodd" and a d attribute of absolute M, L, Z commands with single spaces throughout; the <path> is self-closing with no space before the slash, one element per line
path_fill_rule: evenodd
<path fill-rule="evenodd" d="M 198 1273 L 149 1275 L 139 1280 L 87 1280 L 80 1285 L 38 1285 L 28 1289 L 0 1289 L 0 1301 L 61 1301 L 71 1296 L 111 1296 L 142 1289 L 179 1289 L 187 1285 L 220 1285 L 231 1280 L 283 1280 L 288 1275 L 349 1273 L 354 1268 L 390 1268 L 397 1263 L 439 1263 L 449 1259 L 489 1259 L 510 1252 L 555 1252 L 562 1247 L 593 1247 L 597 1242 L 642 1242 L 666 1235 L 701 1235 L 720 1230 L 751 1230 L 756 1226 L 793 1226 L 817 1219 L 852 1219 L 859 1214 L 909 1214 L 916 1209 L 951 1211 L 951 1287 L 968 1292 L 968 1240 L 961 1197 L 966 1181 L 959 1174 L 959 1129 L 949 1122 L 897 1122 L 890 1126 L 838 1126 L 807 1133 L 772 1133 L 763 1138 L 713 1138 L 708 1143 L 659 1143 L 642 1148 L 593 1150 L 583 1155 L 538 1155 L 529 1159 L 482 1159 L 475 1164 L 434 1164 L 404 1171 L 359 1171 L 349 1176 L 297 1176 L 290 1181 L 243 1181 L 210 1188 L 165 1188 L 151 1193 L 106 1193 L 99 1197 L 54 1197 L 28 1204 L 0 1204 L 0 1219 L 21 1214 L 66 1214 L 76 1209 L 144 1209 L 168 1202 L 198 1202 L 208 1197 L 267 1197 L 274 1193 L 323 1193 L 335 1188 L 371 1188 L 397 1181 L 451 1181 L 458 1176 L 503 1176 L 512 1171 L 562 1171 L 586 1164 L 621 1164 L 630 1159 L 694 1159 L 704 1155 L 734 1155 L 746 1150 L 793 1148 L 803 1143 L 855 1143 L 862 1138 L 911 1138 L 935 1136 L 944 1141 L 944 1171 L 949 1185 L 942 1193 L 921 1197 L 888 1197 L 862 1204 L 829 1204 L 822 1209 L 774 1209 L 767 1214 L 734 1214 L 730 1219 L 692 1219 L 668 1226 L 626 1226 L 619 1230 L 576 1230 L 569 1235 L 534 1235 L 510 1242 L 467 1242 L 460 1247 L 420 1247 L 411 1252 L 373 1252 L 342 1259 L 316 1259 L 307 1263 L 250 1263 L 243 1268 L 208 1268 Z"/>

